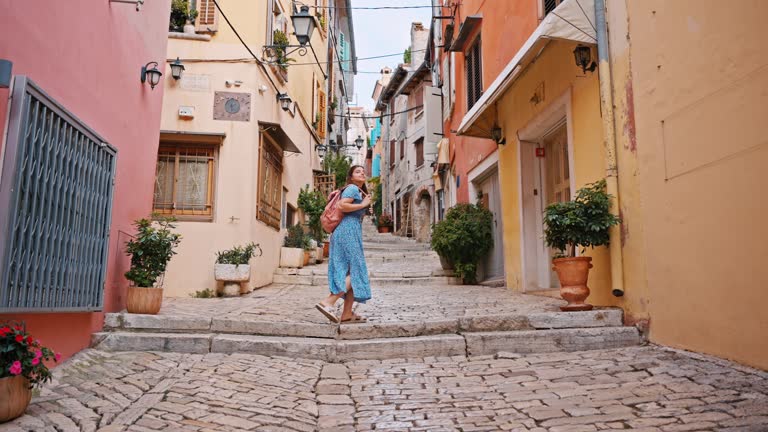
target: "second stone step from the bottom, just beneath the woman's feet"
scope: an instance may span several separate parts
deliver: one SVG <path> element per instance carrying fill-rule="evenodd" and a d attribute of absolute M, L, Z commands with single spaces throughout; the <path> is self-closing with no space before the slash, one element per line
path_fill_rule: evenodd
<path fill-rule="evenodd" d="M 586 312 L 536 312 L 529 314 L 497 314 L 458 317 L 429 321 L 368 322 L 335 325 L 313 322 L 284 322 L 249 320 L 243 318 L 182 317 L 173 315 L 141 315 L 109 313 L 105 315 L 104 329 L 112 332 L 163 332 L 192 334 L 244 334 L 259 336 L 311 337 L 323 339 L 385 339 L 398 337 L 432 336 L 439 334 L 518 331 L 553 329 L 587 329 L 622 326 L 621 309 L 598 309 Z M 486 337 L 491 340 L 490 336 Z"/>

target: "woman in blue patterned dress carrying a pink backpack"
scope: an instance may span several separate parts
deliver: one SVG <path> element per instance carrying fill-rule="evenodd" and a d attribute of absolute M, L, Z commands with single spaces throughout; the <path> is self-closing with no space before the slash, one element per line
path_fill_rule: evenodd
<path fill-rule="evenodd" d="M 363 216 L 371 205 L 365 185 L 365 168 L 353 165 L 347 172 L 347 184 L 341 193 L 339 208 L 344 213 L 331 234 L 328 260 L 328 285 L 331 294 L 315 307 L 332 322 L 362 323 L 366 319 L 352 312 L 355 301 L 365 303 L 371 298 L 368 267 L 363 254 Z M 333 305 L 344 299 L 341 316 Z"/>

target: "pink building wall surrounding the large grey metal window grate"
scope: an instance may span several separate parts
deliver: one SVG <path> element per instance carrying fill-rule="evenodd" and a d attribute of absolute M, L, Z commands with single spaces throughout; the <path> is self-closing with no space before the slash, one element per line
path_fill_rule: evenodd
<path fill-rule="evenodd" d="M 106 0 L 12 3 L 0 14 L 0 58 L 118 149 L 104 312 L 123 309 L 123 243 L 131 222 L 151 211 L 163 98 L 163 86 L 150 90 L 140 70 L 156 61 L 165 73 L 171 0 L 146 1 L 138 12 Z M 8 89 L 0 89 L 3 142 L 7 110 Z M 89 345 L 104 314 L 0 314 L 6 319 L 26 321 L 44 345 L 69 357 Z"/>

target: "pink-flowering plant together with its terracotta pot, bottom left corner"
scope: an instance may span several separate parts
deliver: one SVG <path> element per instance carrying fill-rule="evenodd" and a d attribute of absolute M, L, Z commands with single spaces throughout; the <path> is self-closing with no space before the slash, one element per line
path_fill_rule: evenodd
<path fill-rule="evenodd" d="M 24 414 L 32 389 L 51 380 L 45 362 L 60 359 L 30 336 L 24 323 L 0 325 L 0 423 Z"/>

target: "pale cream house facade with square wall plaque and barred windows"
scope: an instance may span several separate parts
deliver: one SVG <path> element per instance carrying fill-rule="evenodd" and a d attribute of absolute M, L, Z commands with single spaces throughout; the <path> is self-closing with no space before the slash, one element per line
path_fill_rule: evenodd
<path fill-rule="evenodd" d="M 263 2 L 220 3 L 230 20 L 248 38 L 253 50 L 259 50 L 266 34 L 265 27 L 254 22 L 266 22 Z M 258 7 L 257 7 L 258 6 Z M 264 9 L 264 10 L 261 10 Z M 255 20 L 253 17 L 257 17 Z M 261 17 L 261 18 L 258 18 Z M 239 20 L 239 21 L 238 21 Z M 266 24 L 265 24 L 266 25 Z M 315 38 L 313 38 L 313 42 Z M 168 57 L 188 59 L 244 58 L 249 54 L 220 19 L 219 31 L 210 42 L 169 39 Z M 261 42 L 259 42 L 261 41 Z M 318 56 L 323 49 L 317 50 Z M 257 52 L 257 51 L 254 51 Z M 311 56 L 311 53 L 309 54 Z M 303 57 L 301 59 L 304 59 Z M 314 57 L 312 57 L 314 58 Z M 283 187 L 288 189 L 287 200 L 296 205 L 299 189 L 312 183 L 313 165 L 318 165 L 314 155 L 315 139 L 301 118 L 282 111 L 276 103 L 276 92 L 263 70 L 253 62 L 186 62 L 185 74 L 207 75 L 210 82 L 208 91 L 185 90 L 181 82 L 170 79 L 167 69 L 164 85 L 163 116 L 161 129 L 193 132 L 224 132 L 226 139 L 219 149 L 215 179 L 215 212 L 213 222 L 180 222 L 179 231 L 183 240 L 176 255 L 169 264 L 164 286 L 168 297 L 187 297 L 195 291 L 213 289 L 213 264 L 216 251 L 249 241 L 259 243 L 264 255 L 251 261 L 252 287 L 266 285 L 279 263 L 283 233 L 256 220 L 256 187 L 258 184 L 259 130 L 258 121 L 279 123 L 302 154 L 286 154 L 283 158 Z M 311 92 L 312 68 L 289 68 L 289 95 L 300 105 L 311 104 L 312 97 L 302 92 Z M 309 77 L 308 77 L 309 76 Z M 275 82 L 278 82 L 273 76 Z M 240 87 L 225 86 L 226 80 L 240 80 Z M 302 85 L 303 84 L 303 85 Z M 260 92 L 261 86 L 267 88 Z M 229 91 L 251 95 L 251 117 L 249 122 L 213 120 L 213 93 Z M 286 91 L 281 86 L 280 91 Z M 180 120 L 179 106 L 193 106 L 194 120 Z M 311 113 L 311 105 L 304 111 Z M 234 218 L 234 219 L 231 219 Z"/>

